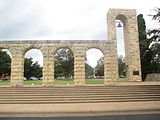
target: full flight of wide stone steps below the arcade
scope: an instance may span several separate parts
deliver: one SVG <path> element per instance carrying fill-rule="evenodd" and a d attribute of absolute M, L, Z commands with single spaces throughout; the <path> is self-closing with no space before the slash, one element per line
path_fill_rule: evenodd
<path fill-rule="evenodd" d="M 160 86 L 0 88 L 0 104 L 160 101 Z"/>

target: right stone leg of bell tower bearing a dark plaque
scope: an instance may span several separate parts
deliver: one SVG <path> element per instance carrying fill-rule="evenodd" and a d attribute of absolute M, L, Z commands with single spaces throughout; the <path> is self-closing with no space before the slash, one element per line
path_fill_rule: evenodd
<path fill-rule="evenodd" d="M 140 49 L 138 39 L 138 27 L 136 19 L 136 11 L 132 18 L 128 19 L 128 49 L 127 54 L 127 77 L 129 81 L 142 81 L 141 79 L 141 63 Z"/>

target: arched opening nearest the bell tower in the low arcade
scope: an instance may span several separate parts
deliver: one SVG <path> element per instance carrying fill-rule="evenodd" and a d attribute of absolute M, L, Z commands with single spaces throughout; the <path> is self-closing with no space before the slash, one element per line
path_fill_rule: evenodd
<path fill-rule="evenodd" d="M 101 50 L 91 48 L 85 57 L 85 84 L 104 84 L 104 55 Z"/>

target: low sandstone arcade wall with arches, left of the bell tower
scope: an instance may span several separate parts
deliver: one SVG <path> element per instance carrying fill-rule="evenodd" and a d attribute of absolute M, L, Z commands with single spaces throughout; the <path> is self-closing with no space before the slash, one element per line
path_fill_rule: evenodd
<path fill-rule="evenodd" d="M 97 48 L 106 56 L 104 62 L 105 83 L 112 81 L 113 60 L 111 42 L 105 40 L 50 40 L 50 41 L 1 41 L 0 49 L 8 49 L 12 54 L 11 86 L 23 86 L 24 55 L 30 49 L 39 49 L 43 53 L 43 85 L 52 86 L 54 81 L 54 54 L 58 49 L 69 48 L 74 54 L 74 82 L 75 85 L 85 84 L 85 54 L 90 48 Z"/>

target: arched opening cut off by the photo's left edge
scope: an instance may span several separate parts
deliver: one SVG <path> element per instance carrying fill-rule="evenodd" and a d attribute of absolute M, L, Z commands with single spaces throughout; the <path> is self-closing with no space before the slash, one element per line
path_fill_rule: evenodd
<path fill-rule="evenodd" d="M 0 85 L 10 85 L 11 59 L 12 55 L 9 50 L 0 50 Z"/>

